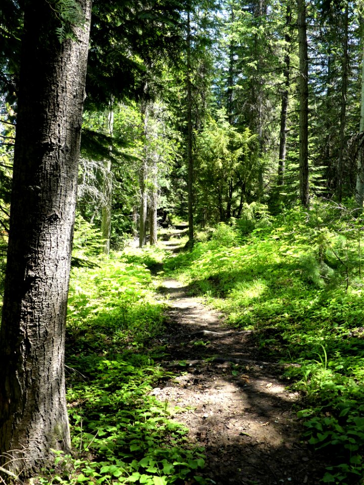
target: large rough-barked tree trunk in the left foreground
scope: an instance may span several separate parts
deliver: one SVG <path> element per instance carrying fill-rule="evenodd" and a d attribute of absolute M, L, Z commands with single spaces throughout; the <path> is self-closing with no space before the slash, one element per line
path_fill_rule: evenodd
<path fill-rule="evenodd" d="M 91 1 L 78 4 L 84 26 L 62 44 L 49 2 L 24 7 L 0 331 L 1 464 L 23 477 L 70 449 L 65 321 Z"/>

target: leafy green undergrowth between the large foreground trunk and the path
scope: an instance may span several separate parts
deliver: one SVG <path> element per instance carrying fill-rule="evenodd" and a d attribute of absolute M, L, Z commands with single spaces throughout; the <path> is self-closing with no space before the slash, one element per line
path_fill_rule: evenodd
<path fill-rule="evenodd" d="M 55 466 L 38 482 L 206 483 L 198 474 L 203 448 L 189 444 L 187 429 L 171 420 L 175 410 L 168 402 L 150 395 L 171 377 L 156 362 L 164 355 L 156 344 L 163 307 L 147 268 L 160 253 L 135 250 L 85 260 L 72 271 L 67 318 L 73 454 L 56 452 Z"/>

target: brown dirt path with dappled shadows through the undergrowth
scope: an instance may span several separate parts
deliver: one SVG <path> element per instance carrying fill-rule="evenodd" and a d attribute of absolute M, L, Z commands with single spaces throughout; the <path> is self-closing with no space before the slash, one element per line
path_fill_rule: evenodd
<path fill-rule="evenodd" d="M 164 365 L 178 376 L 153 394 L 184 409 L 175 419 L 206 447 L 204 476 L 218 485 L 320 483 L 322 460 L 300 440 L 299 396 L 286 390 L 283 369 L 259 361 L 252 332 L 230 330 L 187 290 L 172 279 L 160 289 L 172 360 Z"/>

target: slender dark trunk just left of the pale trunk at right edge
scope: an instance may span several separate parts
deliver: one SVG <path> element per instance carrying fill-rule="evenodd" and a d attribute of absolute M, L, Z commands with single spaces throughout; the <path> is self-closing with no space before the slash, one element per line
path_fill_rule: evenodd
<path fill-rule="evenodd" d="M 340 142 L 339 142 L 339 161 L 337 171 L 337 188 L 339 202 L 342 200 L 342 186 L 344 174 L 344 150 L 345 150 L 345 126 L 346 126 L 346 94 L 348 80 L 348 19 L 349 5 L 346 3 L 344 14 L 344 38 L 343 38 L 343 57 L 342 57 L 342 85 L 341 85 L 341 111 L 340 111 Z"/>

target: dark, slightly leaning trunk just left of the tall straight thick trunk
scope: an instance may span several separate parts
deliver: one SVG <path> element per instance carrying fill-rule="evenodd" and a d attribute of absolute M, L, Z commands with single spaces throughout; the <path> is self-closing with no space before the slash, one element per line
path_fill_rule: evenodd
<path fill-rule="evenodd" d="M 278 161 L 278 185 L 280 186 L 284 184 L 284 176 L 285 176 L 285 169 L 286 169 L 287 110 L 288 110 L 288 90 L 290 87 L 290 61 L 291 61 L 290 55 L 289 55 L 289 47 L 291 44 L 291 34 L 289 32 L 289 28 L 292 20 L 291 6 L 289 2 L 290 0 L 287 0 L 287 11 L 286 11 L 287 32 L 285 35 L 286 55 L 284 58 L 285 68 L 283 71 L 283 75 L 285 78 L 285 89 L 282 92 L 280 147 L 279 147 L 279 161 Z"/>

